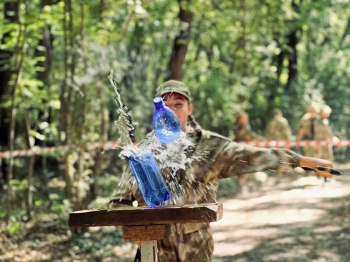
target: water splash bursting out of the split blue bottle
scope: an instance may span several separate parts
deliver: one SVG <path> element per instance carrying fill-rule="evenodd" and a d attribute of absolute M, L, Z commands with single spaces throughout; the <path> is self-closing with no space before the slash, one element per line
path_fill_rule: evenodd
<path fill-rule="evenodd" d="M 208 152 L 195 152 L 193 154 L 195 146 L 184 132 L 174 142 L 167 145 L 161 144 L 155 137 L 154 132 L 148 134 L 147 138 L 138 145 L 132 143 L 130 134 L 134 132 L 134 127 L 131 116 L 127 107 L 121 101 L 112 73 L 109 79 L 114 87 L 115 100 L 119 106 L 119 117 L 115 121 L 120 135 L 117 140 L 117 147 L 122 149 L 119 156 L 127 159 L 130 155 L 142 151 L 153 153 L 170 190 L 171 199 L 165 205 L 196 204 L 197 200 L 201 200 L 203 197 L 206 198 L 209 192 L 213 192 L 210 184 L 202 183 L 195 177 L 192 168 L 193 161 L 201 162 L 201 160 L 208 157 Z M 203 172 L 206 172 L 206 170 L 203 170 Z M 209 195 L 208 197 L 215 199 L 214 196 Z"/>

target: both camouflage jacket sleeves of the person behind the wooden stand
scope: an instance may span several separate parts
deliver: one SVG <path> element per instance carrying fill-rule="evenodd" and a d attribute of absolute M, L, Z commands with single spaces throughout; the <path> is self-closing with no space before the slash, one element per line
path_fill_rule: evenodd
<path fill-rule="evenodd" d="M 186 176 L 203 182 L 203 185 L 208 185 L 217 178 L 277 170 L 282 166 L 291 169 L 299 165 L 299 155 L 293 151 L 251 147 L 205 131 L 195 148 L 193 155 L 189 156 L 193 157 L 194 161 L 186 170 Z M 129 168 L 125 170 L 120 181 L 113 199 L 121 204 L 131 204 L 135 199 L 140 205 L 145 204 Z"/>

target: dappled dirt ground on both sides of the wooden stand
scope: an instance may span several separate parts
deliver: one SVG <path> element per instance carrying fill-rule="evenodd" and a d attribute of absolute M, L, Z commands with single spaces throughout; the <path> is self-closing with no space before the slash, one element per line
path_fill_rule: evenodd
<path fill-rule="evenodd" d="M 332 182 L 292 173 L 219 199 L 214 261 L 350 261 L 350 165 L 337 168 Z M 133 261 L 136 245 L 117 245 L 114 227 L 78 236 L 50 218 L 42 225 L 17 240 L 0 235 L 0 261 Z"/>

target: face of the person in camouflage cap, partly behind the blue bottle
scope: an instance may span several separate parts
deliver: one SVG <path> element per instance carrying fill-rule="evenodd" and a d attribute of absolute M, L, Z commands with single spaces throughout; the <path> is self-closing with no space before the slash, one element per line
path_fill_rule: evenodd
<path fill-rule="evenodd" d="M 178 93 L 167 93 L 163 96 L 164 104 L 179 118 L 182 131 L 186 130 L 187 118 L 192 113 L 192 104 Z"/>

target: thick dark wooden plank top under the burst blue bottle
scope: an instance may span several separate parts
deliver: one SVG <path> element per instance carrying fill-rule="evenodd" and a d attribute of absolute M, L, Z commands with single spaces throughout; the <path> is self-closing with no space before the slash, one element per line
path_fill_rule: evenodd
<path fill-rule="evenodd" d="M 222 218 L 222 203 L 184 206 L 121 207 L 81 210 L 69 214 L 70 227 L 208 223 Z"/>

